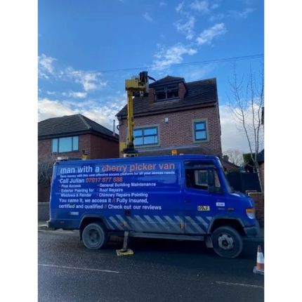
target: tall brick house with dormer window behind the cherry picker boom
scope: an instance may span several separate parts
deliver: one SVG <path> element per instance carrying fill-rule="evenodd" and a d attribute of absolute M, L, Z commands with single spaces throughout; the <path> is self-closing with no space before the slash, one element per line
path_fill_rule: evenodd
<path fill-rule="evenodd" d="M 133 98 L 134 144 L 138 156 L 207 154 L 222 157 L 216 79 L 186 83 L 167 76 Z M 117 113 L 119 140 L 126 142 L 127 105 Z M 122 152 L 120 153 L 122 157 Z"/>

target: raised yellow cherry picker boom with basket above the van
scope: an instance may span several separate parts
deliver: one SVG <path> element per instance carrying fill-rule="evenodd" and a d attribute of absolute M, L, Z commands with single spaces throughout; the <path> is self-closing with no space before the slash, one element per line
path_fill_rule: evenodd
<path fill-rule="evenodd" d="M 134 117 L 133 117 L 133 97 L 134 96 L 144 96 L 145 93 L 149 91 L 148 79 L 153 79 L 147 75 L 147 72 L 140 72 L 138 77 L 133 79 L 126 79 L 125 89 L 127 91 L 127 139 L 126 147 L 122 150 L 124 157 L 136 157 L 138 156 L 138 150 L 134 147 Z"/>

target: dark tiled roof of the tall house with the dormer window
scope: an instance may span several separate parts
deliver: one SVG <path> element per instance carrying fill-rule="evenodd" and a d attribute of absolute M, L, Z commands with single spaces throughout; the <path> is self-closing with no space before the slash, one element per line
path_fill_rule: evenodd
<path fill-rule="evenodd" d="M 155 83 L 168 83 L 167 79 L 183 79 L 176 77 L 165 77 Z M 153 83 L 153 84 L 155 84 Z M 191 81 L 185 83 L 187 92 L 183 99 L 176 98 L 172 100 L 162 100 L 159 102 L 150 102 L 147 96 L 133 98 L 134 116 L 143 116 L 157 114 L 166 111 L 179 111 L 189 109 L 190 107 L 203 107 L 205 105 L 214 105 L 218 102 L 216 79 L 204 79 L 202 81 Z M 118 116 L 126 117 L 127 105 L 117 113 Z"/>

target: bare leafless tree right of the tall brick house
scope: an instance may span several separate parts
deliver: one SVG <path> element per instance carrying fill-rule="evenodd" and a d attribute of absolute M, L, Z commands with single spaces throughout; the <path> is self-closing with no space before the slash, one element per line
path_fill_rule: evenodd
<path fill-rule="evenodd" d="M 259 80 L 260 78 L 260 80 Z M 263 146 L 263 121 L 262 108 L 264 105 L 264 70 L 261 67 L 260 77 L 254 77 L 250 68 L 247 79 L 238 80 L 236 67 L 232 81 L 229 81 L 232 98 L 229 97 L 229 106 L 235 121 L 239 124 L 238 130 L 243 131 L 249 144 L 251 161 L 254 171 L 258 173 L 259 183 L 261 178 L 258 165 L 258 152 Z M 261 191 L 263 188 L 261 186 Z"/>

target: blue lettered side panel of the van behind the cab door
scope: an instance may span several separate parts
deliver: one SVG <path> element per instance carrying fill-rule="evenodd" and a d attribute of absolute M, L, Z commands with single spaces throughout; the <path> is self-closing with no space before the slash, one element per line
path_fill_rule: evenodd
<path fill-rule="evenodd" d="M 58 162 L 53 170 L 51 224 L 79 228 L 95 214 L 110 230 L 182 234 L 180 161 Z"/>

